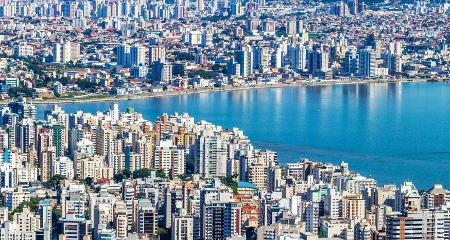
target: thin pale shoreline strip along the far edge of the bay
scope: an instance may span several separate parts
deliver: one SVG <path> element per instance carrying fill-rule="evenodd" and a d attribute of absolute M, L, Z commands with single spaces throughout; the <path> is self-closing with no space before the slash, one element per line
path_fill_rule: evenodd
<path fill-rule="evenodd" d="M 337 85 L 337 84 L 366 84 L 366 83 L 402 83 L 402 82 L 426 82 L 426 80 L 390 80 L 390 81 L 342 81 L 342 82 L 315 82 L 315 83 L 276 83 L 276 84 L 262 84 L 253 86 L 238 86 L 238 87 L 212 87 L 212 88 L 200 88 L 197 90 L 187 89 L 180 91 L 159 91 L 157 93 L 142 93 L 132 95 L 97 95 L 105 96 L 100 98 L 72 98 L 72 99 L 30 99 L 33 104 L 64 104 L 64 103 L 88 103 L 88 102 L 104 102 L 104 101 L 126 101 L 145 98 L 156 97 L 170 97 L 180 96 L 186 94 L 201 94 L 201 93 L 218 93 L 222 91 L 238 91 L 238 90 L 251 90 L 251 89 L 264 89 L 264 88 L 279 88 L 279 87 L 308 87 L 308 86 L 324 86 L 324 85 Z"/>

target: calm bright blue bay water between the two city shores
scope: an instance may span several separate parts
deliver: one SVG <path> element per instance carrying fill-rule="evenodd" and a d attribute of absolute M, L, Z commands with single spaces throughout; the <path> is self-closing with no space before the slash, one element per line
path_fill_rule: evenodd
<path fill-rule="evenodd" d="M 66 113 L 105 111 L 110 102 L 60 104 Z M 238 127 L 281 164 L 300 158 L 349 163 L 378 185 L 412 180 L 450 188 L 450 83 L 361 83 L 224 91 L 119 101 L 153 121 L 187 112 Z M 38 105 L 38 118 L 51 105 Z"/>

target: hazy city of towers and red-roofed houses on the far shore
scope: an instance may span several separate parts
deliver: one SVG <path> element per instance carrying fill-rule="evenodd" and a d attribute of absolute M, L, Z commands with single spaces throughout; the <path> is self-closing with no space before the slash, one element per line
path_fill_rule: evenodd
<path fill-rule="evenodd" d="M 447 3 L 35 1 L 0 6 L 0 85 L 26 97 L 445 79 Z M 6 58 L 11 57 L 11 58 Z M 86 86 L 85 82 L 89 82 Z M 12 96 L 15 97 L 15 96 Z"/>

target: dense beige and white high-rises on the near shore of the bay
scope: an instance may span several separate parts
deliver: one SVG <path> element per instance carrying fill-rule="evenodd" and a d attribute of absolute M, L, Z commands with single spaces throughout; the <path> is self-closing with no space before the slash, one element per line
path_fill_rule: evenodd
<path fill-rule="evenodd" d="M 0 112 L 2 239 L 449 237 L 441 184 L 379 187 L 345 162 L 280 165 L 238 128 L 187 113 L 149 121 L 112 102 L 36 115 L 22 98 Z"/>

